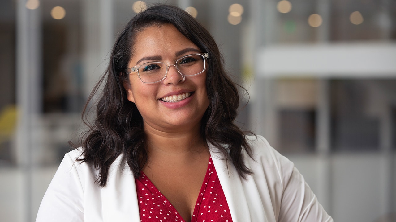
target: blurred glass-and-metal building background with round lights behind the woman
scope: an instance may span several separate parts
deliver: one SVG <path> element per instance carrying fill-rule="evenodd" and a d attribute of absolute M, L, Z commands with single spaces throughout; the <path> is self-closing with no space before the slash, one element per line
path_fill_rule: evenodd
<path fill-rule="evenodd" d="M 213 34 L 250 95 L 238 124 L 292 160 L 335 221 L 396 221 L 395 0 L 2 0 L 1 221 L 35 220 L 118 32 L 158 2 Z"/>

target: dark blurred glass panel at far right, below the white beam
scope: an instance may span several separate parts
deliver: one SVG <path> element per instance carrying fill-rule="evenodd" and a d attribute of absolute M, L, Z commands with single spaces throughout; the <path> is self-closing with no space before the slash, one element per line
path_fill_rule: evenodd
<path fill-rule="evenodd" d="M 392 119 L 395 84 L 394 79 L 331 81 L 331 147 L 334 151 L 374 151 L 381 149 L 381 144 L 390 144 L 390 141 L 381 141 L 381 134 L 391 134 L 383 131 L 388 129 L 383 124 Z"/>

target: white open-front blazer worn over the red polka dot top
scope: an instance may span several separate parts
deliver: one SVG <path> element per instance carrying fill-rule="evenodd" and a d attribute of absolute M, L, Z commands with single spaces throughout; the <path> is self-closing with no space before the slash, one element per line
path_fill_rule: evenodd
<path fill-rule="evenodd" d="M 254 160 L 244 153 L 254 172 L 247 180 L 209 145 L 213 164 L 233 222 L 331 222 L 303 176 L 261 136 L 248 136 Z M 76 149 L 65 155 L 44 195 L 36 222 L 139 222 L 133 173 L 120 155 L 109 169 L 107 185 L 95 184 L 97 171 L 75 162 Z"/>

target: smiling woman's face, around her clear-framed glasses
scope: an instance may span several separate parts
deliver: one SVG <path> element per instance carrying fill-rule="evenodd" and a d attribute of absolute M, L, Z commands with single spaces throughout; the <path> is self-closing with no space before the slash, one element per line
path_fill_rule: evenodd
<path fill-rule="evenodd" d="M 154 61 L 164 62 L 169 66 L 175 64 L 174 61 L 182 56 L 206 53 L 201 52 L 171 24 L 145 28 L 137 34 L 133 49 L 128 68 Z M 124 85 L 128 100 L 136 104 L 145 128 L 150 127 L 162 132 L 199 128 L 209 106 L 206 71 L 199 75 L 187 76 L 183 81 L 183 76 L 175 66 L 170 66 L 166 78 L 152 84 L 141 82 L 137 72 L 133 71 L 129 74 L 129 83 Z M 178 99 L 176 102 L 166 102 L 164 100 L 167 96 L 176 96 Z M 184 96 L 187 98 L 183 99 Z"/>

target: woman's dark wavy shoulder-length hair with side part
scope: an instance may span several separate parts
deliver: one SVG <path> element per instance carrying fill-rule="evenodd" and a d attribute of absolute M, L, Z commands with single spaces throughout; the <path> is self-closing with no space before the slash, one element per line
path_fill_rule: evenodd
<path fill-rule="evenodd" d="M 156 5 L 135 15 L 125 26 L 112 49 L 109 67 L 91 92 L 84 107 L 83 121 L 88 131 L 81 137 L 82 156 L 78 161 L 92 164 L 99 171 L 96 182 L 105 186 L 109 167 L 124 154 L 135 177 L 139 177 L 147 162 L 143 119 L 135 103 L 128 101 L 123 84 L 128 81 L 128 62 L 133 56 L 136 36 L 145 28 L 173 24 L 202 52 L 209 53 L 206 88 L 209 107 L 202 118 L 200 133 L 231 160 L 239 175 L 246 178 L 252 172 L 244 163 L 245 150 L 252 158 L 245 134 L 234 120 L 238 114 L 239 95 L 236 84 L 223 68 L 223 58 L 211 34 L 190 14 L 175 6 Z M 87 119 L 89 102 L 97 96 L 93 121 Z M 76 146 L 74 146 L 76 147 Z"/>

